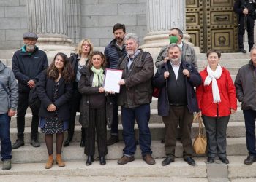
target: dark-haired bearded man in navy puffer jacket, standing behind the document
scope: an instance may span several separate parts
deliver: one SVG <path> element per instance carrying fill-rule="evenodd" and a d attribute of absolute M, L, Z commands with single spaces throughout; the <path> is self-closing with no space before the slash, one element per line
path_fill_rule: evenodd
<path fill-rule="evenodd" d="M 113 26 L 113 35 L 115 39 L 110 41 L 105 47 L 104 55 L 106 57 L 107 68 L 116 69 L 119 58 L 127 54 L 124 47 L 125 25 L 117 23 Z M 107 145 L 113 145 L 119 141 L 118 138 L 118 105 L 117 96 L 111 95 L 113 100 L 113 120 L 111 125 L 111 137 L 108 139 Z"/>

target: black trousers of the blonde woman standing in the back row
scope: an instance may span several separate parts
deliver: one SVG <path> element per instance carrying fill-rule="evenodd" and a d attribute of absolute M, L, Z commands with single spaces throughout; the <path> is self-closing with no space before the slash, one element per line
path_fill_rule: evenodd
<path fill-rule="evenodd" d="M 81 100 L 81 94 L 78 92 L 78 89 L 74 89 L 72 99 L 70 100 L 70 119 L 69 119 L 69 128 L 68 134 L 70 138 L 73 138 L 74 130 L 75 130 L 75 117 L 77 111 L 79 111 Z"/>

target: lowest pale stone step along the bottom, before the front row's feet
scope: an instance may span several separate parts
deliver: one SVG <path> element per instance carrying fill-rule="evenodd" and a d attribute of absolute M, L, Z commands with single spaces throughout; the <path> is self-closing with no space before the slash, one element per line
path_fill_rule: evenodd
<path fill-rule="evenodd" d="M 246 156 L 228 156 L 230 164 L 223 165 L 219 160 L 208 164 L 205 157 L 194 158 L 195 167 L 187 165 L 181 158 L 163 167 L 163 159 L 156 159 L 156 165 L 147 165 L 142 159 L 135 159 L 127 165 L 117 165 L 116 160 L 107 160 L 106 165 L 94 161 L 91 166 L 83 160 L 67 160 L 65 167 L 56 164 L 45 170 L 41 163 L 12 164 L 11 170 L 0 171 L 0 181 L 188 181 L 206 182 L 219 178 L 219 181 L 252 182 L 256 178 L 256 164 L 244 165 Z M 29 175 L 29 178 L 28 178 Z M 217 177 L 216 177 L 217 176 Z"/>

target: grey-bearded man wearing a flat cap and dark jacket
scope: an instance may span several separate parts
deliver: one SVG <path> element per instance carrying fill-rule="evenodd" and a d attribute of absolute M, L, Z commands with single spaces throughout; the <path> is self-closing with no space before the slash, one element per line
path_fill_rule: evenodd
<path fill-rule="evenodd" d="M 48 67 L 48 59 L 44 51 L 36 46 L 38 36 L 36 33 L 23 34 L 24 46 L 16 51 L 12 57 L 12 71 L 18 79 L 18 108 L 17 108 L 17 137 L 12 149 L 24 145 L 25 114 L 29 107 L 29 92 L 35 87 L 39 74 Z M 32 111 L 31 145 L 39 147 L 37 140 L 39 117 L 38 111 Z"/>

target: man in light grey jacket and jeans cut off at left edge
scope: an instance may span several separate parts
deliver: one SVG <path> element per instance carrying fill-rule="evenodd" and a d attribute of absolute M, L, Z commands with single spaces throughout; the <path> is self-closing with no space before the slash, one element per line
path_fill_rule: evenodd
<path fill-rule="evenodd" d="M 2 170 L 10 170 L 12 144 L 10 140 L 10 117 L 18 107 L 18 85 L 10 68 L 0 60 L 0 139 Z"/>

